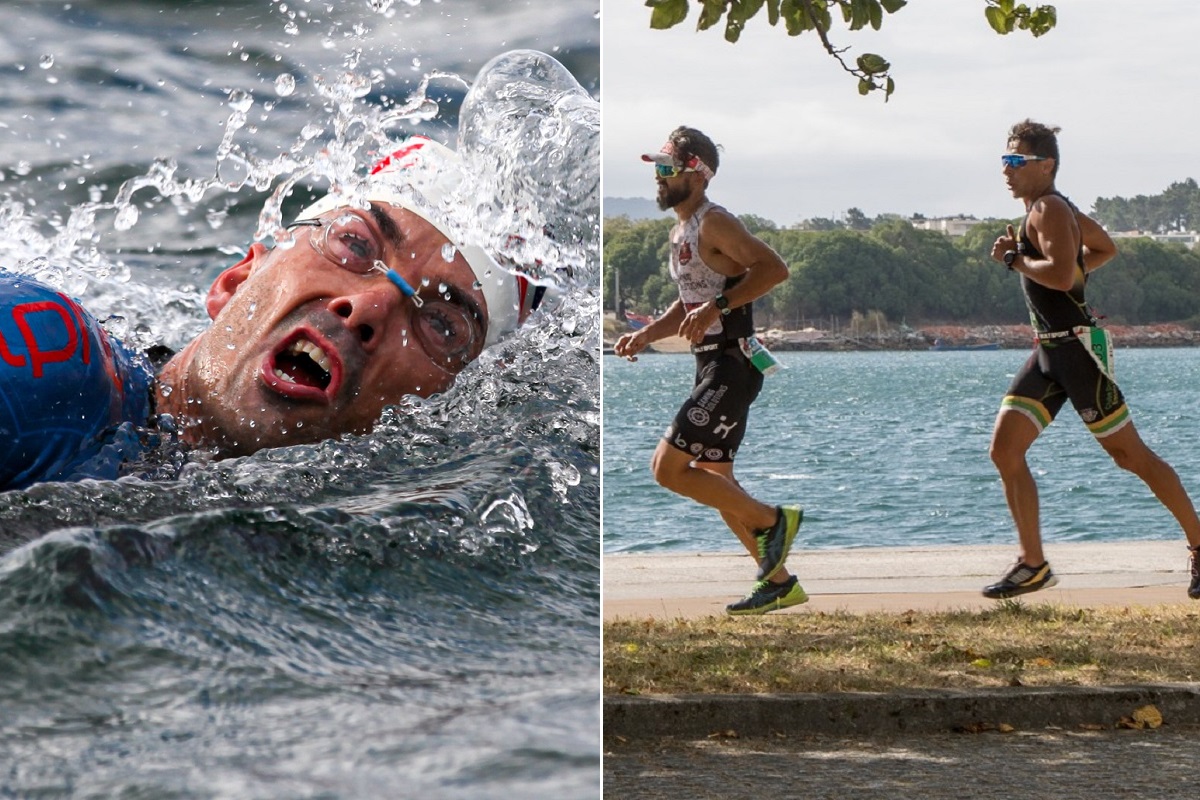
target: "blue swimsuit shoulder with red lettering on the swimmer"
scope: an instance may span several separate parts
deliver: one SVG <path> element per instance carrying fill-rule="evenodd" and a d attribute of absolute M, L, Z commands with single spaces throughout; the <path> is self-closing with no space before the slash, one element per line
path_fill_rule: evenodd
<path fill-rule="evenodd" d="M 77 302 L 0 271 L 0 491 L 115 479 L 140 450 L 154 371 Z"/>

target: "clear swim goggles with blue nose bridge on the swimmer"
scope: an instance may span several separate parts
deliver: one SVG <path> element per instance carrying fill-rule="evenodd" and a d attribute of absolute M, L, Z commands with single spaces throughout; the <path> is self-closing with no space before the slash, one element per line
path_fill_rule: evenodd
<path fill-rule="evenodd" d="M 326 261 L 364 277 L 380 273 L 412 300 L 413 329 L 434 363 L 457 366 L 474 356 L 482 327 L 482 314 L 474 301 L 445 285 L 439 287 L 438 294 L 432 297 L 418 294 L 400 272 L 383 260 L 383 242 L 364 217 L 346 211 L 336 217 L 296 219 L 287 228 L 319 229 L 310 234 L 308 243 Z"/>

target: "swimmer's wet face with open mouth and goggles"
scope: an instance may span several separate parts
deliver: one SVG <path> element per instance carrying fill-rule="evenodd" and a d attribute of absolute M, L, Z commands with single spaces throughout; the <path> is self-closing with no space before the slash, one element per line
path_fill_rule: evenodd
<path fill-rule="evenodd" d="M 334 241 L 322 243 L 329 230 Z M 425 219 L 378 203 L 294 234 L 287 248 L 253 245 L 216 279 L 211 329 L 161 377 L 172 389 L 163 410 L 185 417 L 185 438 L 222 455 L 365 433 L 406 395 L 445 390 L 482 349 L 484 294 Z M 382 271 L 343 266 L 359 257 L 395 270 L 425 305 Z"/>

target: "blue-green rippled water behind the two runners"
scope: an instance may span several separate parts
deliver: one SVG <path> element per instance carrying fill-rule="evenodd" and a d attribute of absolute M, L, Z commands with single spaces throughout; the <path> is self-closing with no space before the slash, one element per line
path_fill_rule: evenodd
<path fill-rule="evenodd" d="M 799 547 L 1014 543 L 988 457 L 1000 399 L 1027 353 L 780 353 L 738 452 L 739 481 L 799 503 Z M 1117 380 L 1142 438 L 1200 501 L 1200 350 L 1117 349 Z M 604 359 L 606 552 L 737 552 L 716 512 L 654 483 L 658 439 L 691 387 L 690 355 Z M 1174 518 L 1115 467 L 1069 408 L 1034 444 L 1043 535 L 1177 539 Z"/>

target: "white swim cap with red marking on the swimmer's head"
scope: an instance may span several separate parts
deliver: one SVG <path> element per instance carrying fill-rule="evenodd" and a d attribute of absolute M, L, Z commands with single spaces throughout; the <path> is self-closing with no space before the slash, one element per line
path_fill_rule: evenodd
<path fill-rule="evenodd" d="M 461 181 L 458 154 L 433 139 L 412 137 L 371 168 L 362 199 L 415 213 L 457 248 L 475 273 L 487 305 L 486 347 L 524 323 L 529 312 L 538 307 L 546 288 L 534 285 L 527 276 L 500 266 L 482 247 L 461 246 L 455 241 L 444 215 L 438 213 L 438 206 Z M 424 198 L 425 203 L 418 198 Z M 347 205 L 349 201 L 344 196 L 326 194 L 301 211 L 298 218 L 311 219 Z"/>

